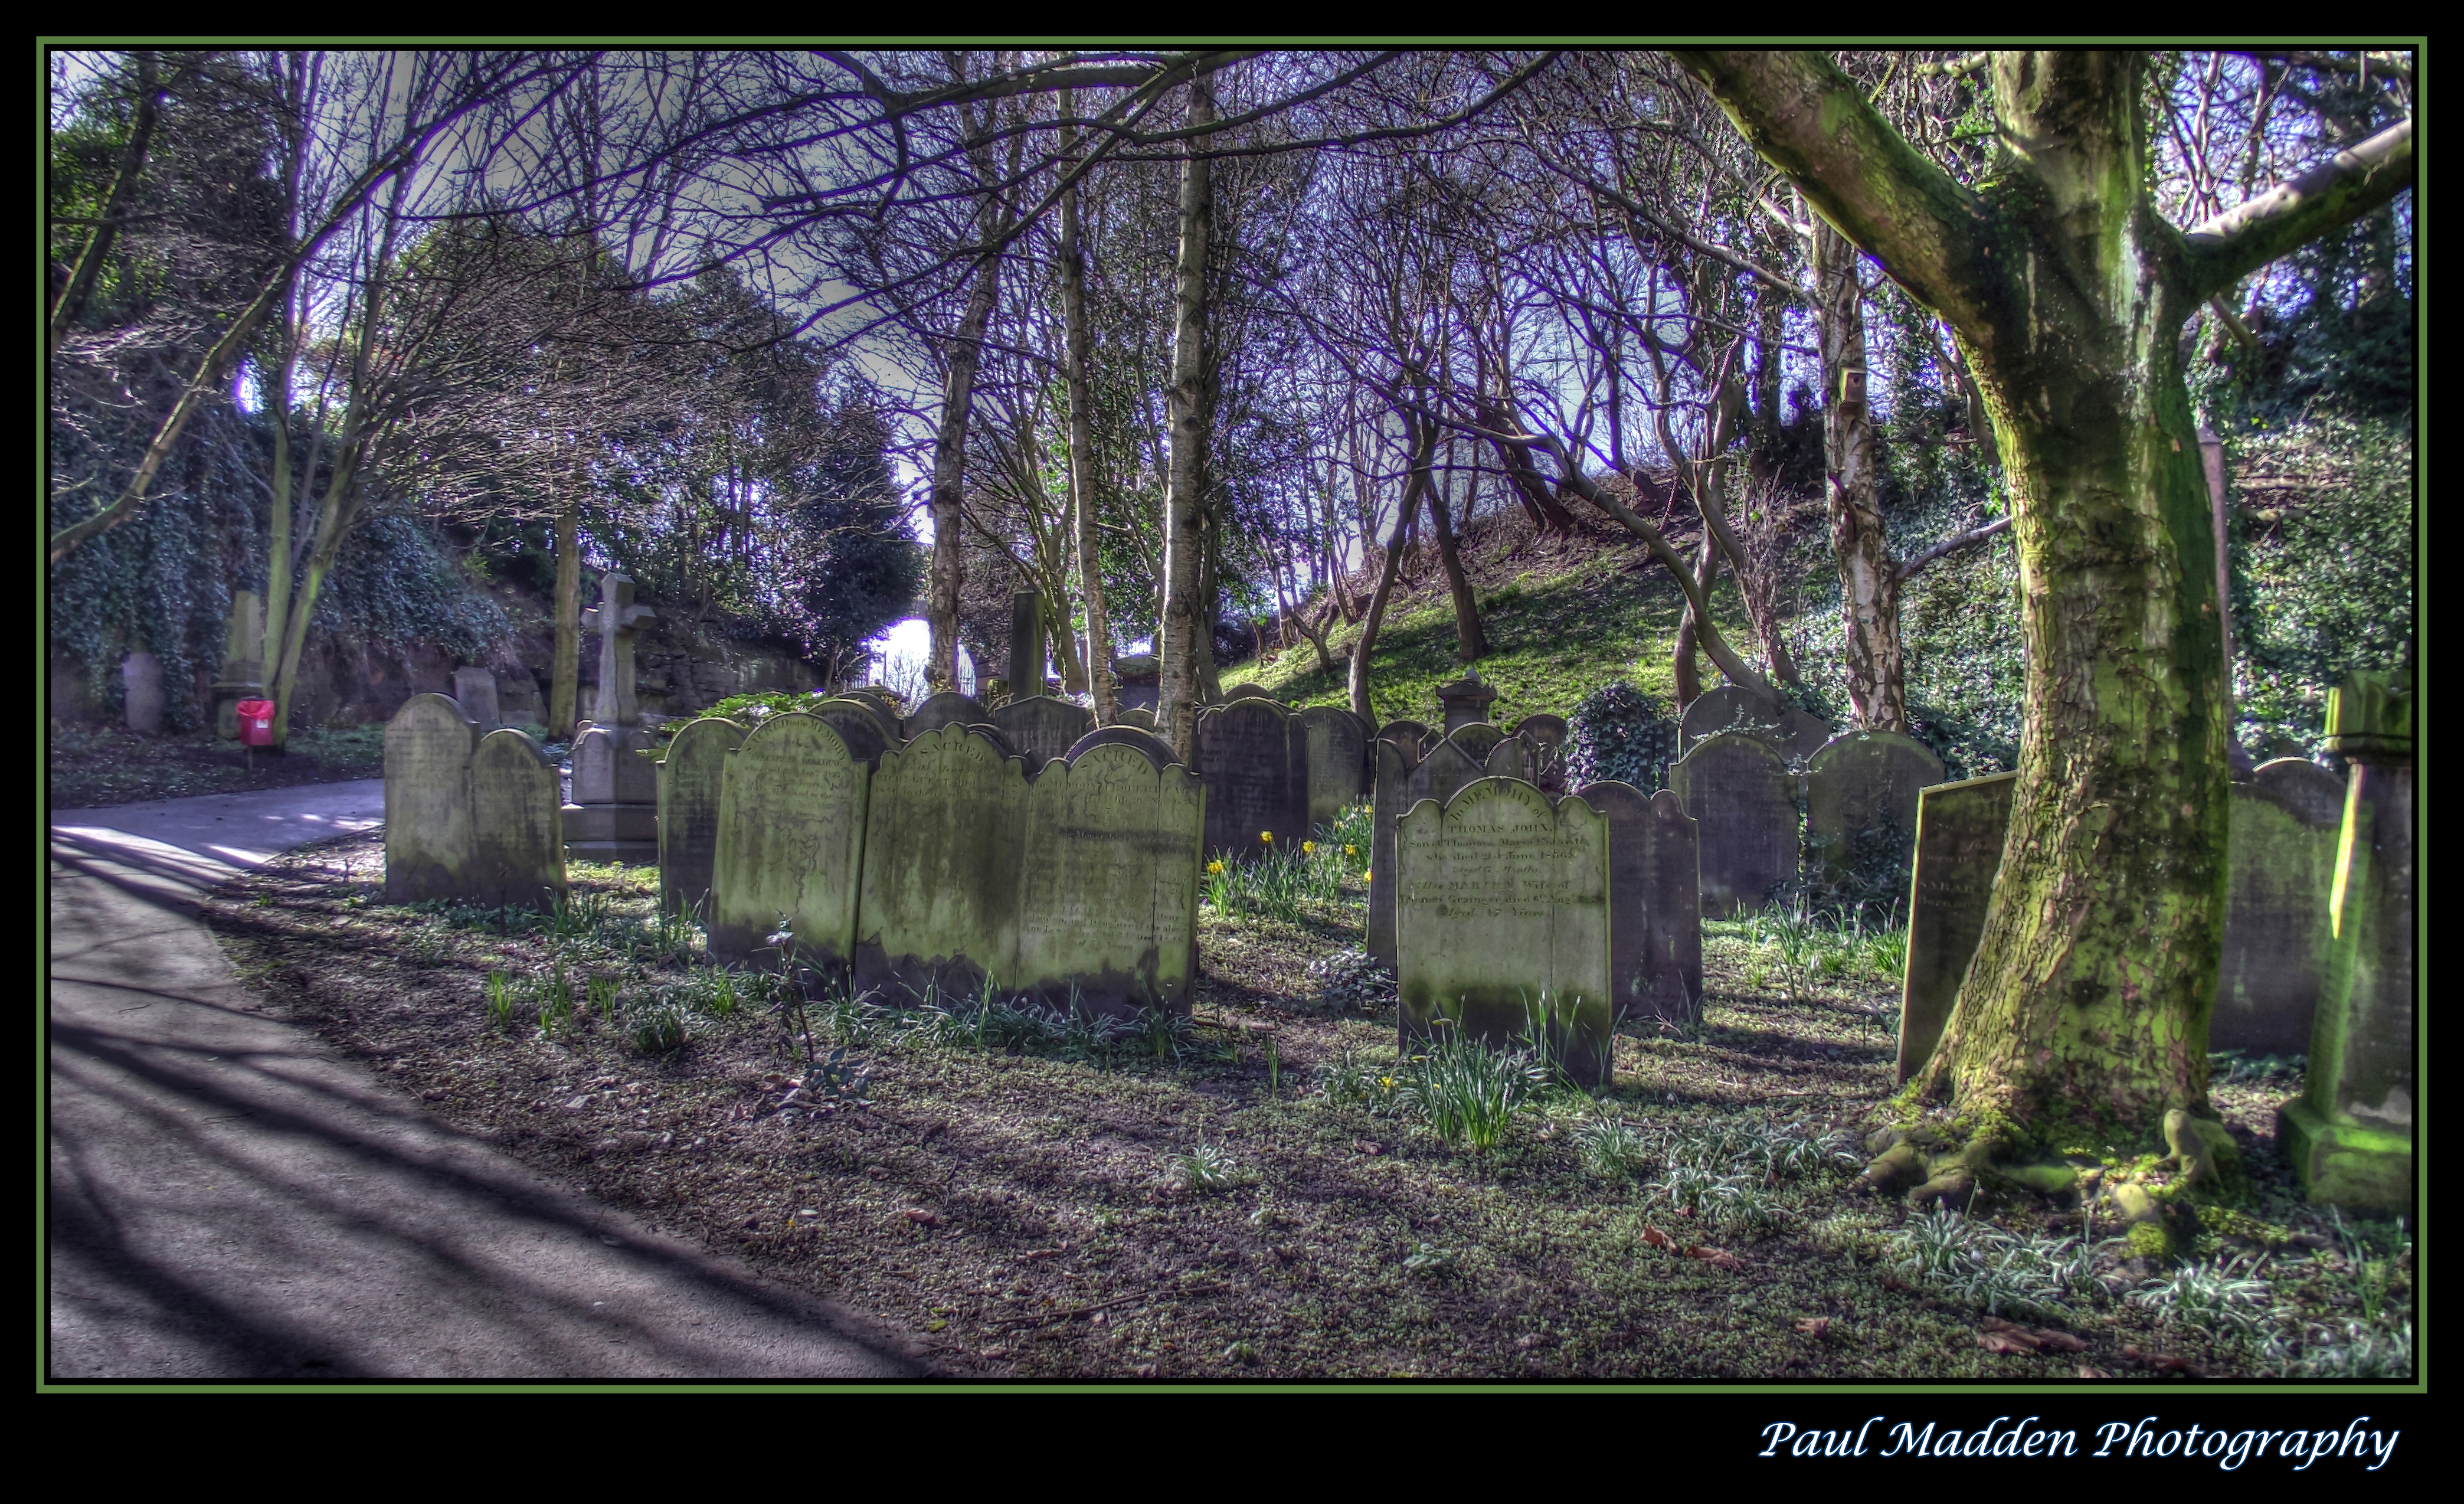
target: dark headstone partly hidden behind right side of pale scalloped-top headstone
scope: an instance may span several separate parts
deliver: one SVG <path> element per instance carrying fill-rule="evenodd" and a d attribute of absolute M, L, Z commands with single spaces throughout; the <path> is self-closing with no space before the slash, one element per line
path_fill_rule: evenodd
<path fill-rule="evenodd" d="M 1690 1023 L 1703 1013 L 1703 895 L 1695 821 L 1676 794 L 1584 784 L 1609 824 L 1609 996 L 1619 1018 Z"/>

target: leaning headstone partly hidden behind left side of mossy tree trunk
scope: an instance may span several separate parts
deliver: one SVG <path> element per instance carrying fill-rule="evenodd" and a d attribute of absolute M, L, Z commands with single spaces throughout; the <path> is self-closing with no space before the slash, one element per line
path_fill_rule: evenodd
<path fill-rule="evenodd" d="M 1900 976 L 1900 1082 L 1924 1070 L 1986 932 L 2016 772 L 1934 784 L 1917 796 L 1917 858 Z"/>

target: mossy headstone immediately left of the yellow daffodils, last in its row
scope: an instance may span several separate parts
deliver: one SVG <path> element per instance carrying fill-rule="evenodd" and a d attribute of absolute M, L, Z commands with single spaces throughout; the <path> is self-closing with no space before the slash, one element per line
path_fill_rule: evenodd
<path fill-rule="evenodd" d="M 1089 732 L 1027 789 L 1005 984 L 1052 1008 L 1178 1013 L 1198 976 L 1205 784 L 1153 737 L 1094 742 L 1121 735 Z"/>

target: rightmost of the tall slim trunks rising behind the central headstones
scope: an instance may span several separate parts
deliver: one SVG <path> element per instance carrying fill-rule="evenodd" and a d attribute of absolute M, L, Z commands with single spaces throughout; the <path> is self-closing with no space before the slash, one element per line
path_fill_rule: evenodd
<path fill-rule="evenodd" d="M 1193 148 L 1202 150 L 1205 128 L 1215 123 L 1215 79 L 1190 79 L 1188 126 Z M 1202 676 L 1215 668 L 1215 611 L 1205 599 L 1212 537 L 1200 493 L 1207 449 L 1207 234 L 1215 224 L 1215 192 L 1207 160 L 1193 155 L 1180 165 L 1180 251 L 1173 271 L 1173 456 L 1163 483 L 1163 624 L 1156 634 L 1158 705 L 1156 730 L 1185 762 L 1195 752 Z"/>

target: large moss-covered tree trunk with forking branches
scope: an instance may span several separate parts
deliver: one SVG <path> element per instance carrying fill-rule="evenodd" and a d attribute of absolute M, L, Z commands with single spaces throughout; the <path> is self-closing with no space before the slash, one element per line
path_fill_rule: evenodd
<path fill-rule="evenodd" d="M 1986 1137 L 2205 1114 L 2227 700 L 2183 318 L 2410 182 L 2410 126 L 2190 232 L 2146 195 L 2141 59 L 1998 52 L 1961 187 L 1811 52 L 1688 52 L 1762 155 L 1961 343 L 2020 555 L 2025 720 L 1984 939 L 1919 1090 Z"/>

